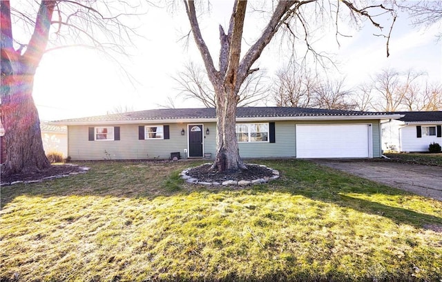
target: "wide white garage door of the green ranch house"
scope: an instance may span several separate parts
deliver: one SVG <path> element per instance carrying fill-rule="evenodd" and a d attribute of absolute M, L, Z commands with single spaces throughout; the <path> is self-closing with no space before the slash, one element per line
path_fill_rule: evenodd
<path fill-rule="evenodd" d="M 372 153 L 369 124 L 296 125 L 297 158 L 367 158 Z"/>

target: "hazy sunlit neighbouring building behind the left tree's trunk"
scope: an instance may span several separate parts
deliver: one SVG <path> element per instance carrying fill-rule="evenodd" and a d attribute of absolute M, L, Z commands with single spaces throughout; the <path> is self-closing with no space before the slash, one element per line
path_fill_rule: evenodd
<path fill-rule="evenodd" d="M 60 152 L 64 158 L 68 156 L 68 136 L 66 126 L 51 125 L 45 121 L 40 122 L 41 141 L 46 154 Z M 4 128 L 0 123 L 0 159 L 6 161 L 6 143 L 4 142 Z"/>

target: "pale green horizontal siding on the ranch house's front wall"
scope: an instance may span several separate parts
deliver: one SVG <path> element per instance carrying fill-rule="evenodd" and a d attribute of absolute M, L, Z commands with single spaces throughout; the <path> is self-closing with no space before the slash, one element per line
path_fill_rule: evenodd
<path fill-rule="evenodd" d="M 256 121 L 266 122 L 266 121 Z M 338 124 L 338 123 L 372 123 L 373 157 L 381 157 L 381 132 L 378 120 L 367 121 L 276 121 L 276 143 L 250 142 L 239 143 L 240 155 L 243 158 L 256 157 L 296 157 L 296 124 Z M 160 124 L 160 123 L 159 123 Z M 191 123 L 204 126 L 204 153 L 216 152 L 216 124 Z M 189 150 L 187 142 L 187 124 L 169 123 L 170 139 L 139 140 L 138 126 L 144 124 L 119 125 L 121 141 L 88 141 L 88 128 L 94 125 L 68 126 L 68 155 L 72 160 L 103 159 L 169 159 L 171 152 L 180 152 L 186 158 L 184 149 Z M 109 124 L 113 126 L 113 124 Z M 181 135 L 184 128 L 186 134 Z M 206 129 L 209 128 L 209 135 Z"/>

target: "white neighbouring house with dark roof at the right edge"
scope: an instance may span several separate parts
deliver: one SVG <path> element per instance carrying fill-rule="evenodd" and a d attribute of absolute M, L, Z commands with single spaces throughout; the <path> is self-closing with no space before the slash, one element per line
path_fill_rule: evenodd
<path fill-rule="evenodd" d="M 442 145 L 442 111 L 392 112 L 403 117 L 381 121 L 382 149 L 428 152 L 430 143 Z"/>

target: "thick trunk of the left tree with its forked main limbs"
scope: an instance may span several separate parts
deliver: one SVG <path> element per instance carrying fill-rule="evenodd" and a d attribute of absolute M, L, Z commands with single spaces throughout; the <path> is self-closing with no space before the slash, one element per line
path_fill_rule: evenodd
<path fill-rule="evenodd" d="M 10 2 L 0 2 L 1 122 L 5 128 L 4 174 L 38 172 L 50 167 L 41 141 L 40 121 L 32 88 L 41 57 L 46 50 L 50 19 L 56 1 L 41 1 L 35 30 L 26 52 L 15 50 Z"/>

